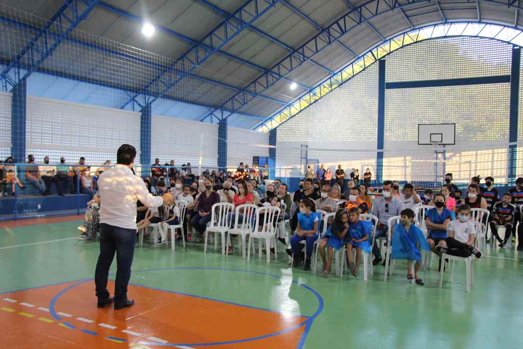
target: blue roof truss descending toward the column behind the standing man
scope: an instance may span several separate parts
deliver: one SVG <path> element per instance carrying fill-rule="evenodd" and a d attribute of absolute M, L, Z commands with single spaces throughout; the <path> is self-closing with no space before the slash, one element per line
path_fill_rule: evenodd
<path fill-rule="evenodd" d="M 224 18 L 203 39 L 198 41 L 199 44 L 192 46 L 164 72 L 158 74 L 151 82 L 146 84 L 141 93 L 133 95 L 120 108 L 125 108 L 129 103 L 137 103 L 142 107 L 138 101 L 140 96 L 143 97 L 144 105 L 152 104 L 156 99 L 163 97 L 169 89 L 176 86 L 184 77 L 193 72 L 199 64 L 206 61 L 213 53 L 238 36 L 242 30 L 267 13 L 278 2 L 279 0 L 247 0 L 234 13 Z M 174 77 L 170 73 L 173 73 L 176 69 L 184 73 Z"/>

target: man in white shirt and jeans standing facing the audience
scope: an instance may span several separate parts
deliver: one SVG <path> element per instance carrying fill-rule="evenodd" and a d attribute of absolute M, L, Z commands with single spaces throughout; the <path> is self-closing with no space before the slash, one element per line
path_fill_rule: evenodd
<path fill-rule="evenodd" d="M 174 204 L 170 194 L 156 197 L 149 193 L 143 179 L 134 174 L 132 167 L 136 149 L 129 144 L 118 148 L 117 165 L 104 171 L 98 179 L 100 204 L 100 254 L 96 263 L 95 284 L 98 308 L 115 303 L 115 310 L 134 304 L 127 298 L 127 285 L 131 277 L 134 244 L 137 235 L 137 200 L 148 208 Z M 117 257 L 115 298 L 107 290 L 107 279 L 112 260 Z"/>

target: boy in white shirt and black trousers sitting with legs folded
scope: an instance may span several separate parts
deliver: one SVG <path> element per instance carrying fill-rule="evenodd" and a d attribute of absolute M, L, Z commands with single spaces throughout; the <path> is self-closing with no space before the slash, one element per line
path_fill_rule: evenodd
<path fill-rule="evenodd" d="M 447 247 L 438 245 L 436 247 L 438 254 L 445 253 L 458 257 L 468 257 L 473 254 L 476 258 L 480 258 L 480 250 L 474 247 L 476 230 L 470 221 L 470 206 L 459 206 L 457 213 L 458 218 L 451 221 L 447 227 Z"/>

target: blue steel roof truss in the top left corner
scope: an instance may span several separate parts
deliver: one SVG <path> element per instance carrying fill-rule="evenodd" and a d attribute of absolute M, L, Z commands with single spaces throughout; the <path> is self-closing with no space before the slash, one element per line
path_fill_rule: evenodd
<path fill-rule="evenodd" d="M 0 73 L 0 81 L 3 82 L 5 89 L 7 90 L 7 84 L 15 86 L 18 81 L 26 79 L 37 70 L 71 31 L 87 18 L 97 3 L 98 0 L 64 1 L 58 11 Z M 24 61 L 28 63 L 24 64 Z M 25 70 L 24 76 L 20 76 L 21 69 Z M 14 74 L 9 74 L 11 71 Z"/>

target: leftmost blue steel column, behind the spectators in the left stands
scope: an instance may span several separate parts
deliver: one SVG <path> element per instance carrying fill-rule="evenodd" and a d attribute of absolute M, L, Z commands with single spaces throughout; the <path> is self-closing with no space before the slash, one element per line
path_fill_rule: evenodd
<path fill-rule="evenodd" d="M 27 80 L 22 79 L 13 87 L 11 98 L 11 155 L 15 162 L 26 158 Z"/>

